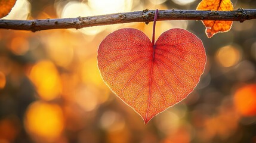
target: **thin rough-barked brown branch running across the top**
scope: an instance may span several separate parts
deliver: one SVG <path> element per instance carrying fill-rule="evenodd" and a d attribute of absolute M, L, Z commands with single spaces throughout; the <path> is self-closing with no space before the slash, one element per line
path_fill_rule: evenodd
<path fill-rule="evenodd" d="M 36 32 L 47 29 L 81 29 L 118 23 L 153 21 L 155 10 L 134 11 L 77 18 L 58 18 L 45 20 L 0 20 L 0 29 L 30 30 Z M 164 20 L 226 20 L 240 21 L 256 18 L 256 9 L 238 8 L 234 11 L 198 10 L 159 10 L 158 21 Z"/>

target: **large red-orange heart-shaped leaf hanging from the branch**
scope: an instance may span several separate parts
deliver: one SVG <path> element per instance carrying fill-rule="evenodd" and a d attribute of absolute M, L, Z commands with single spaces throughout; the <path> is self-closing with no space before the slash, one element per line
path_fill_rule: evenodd
<path fill-rule="evenodd" d="M 193 91 L 205 69 L 202 41 L 184 29 L 170 29 L 155 50 L 137 29 L 119 29 L 98 48 L 98 68 L 104 82 L 149 122 Z"/>

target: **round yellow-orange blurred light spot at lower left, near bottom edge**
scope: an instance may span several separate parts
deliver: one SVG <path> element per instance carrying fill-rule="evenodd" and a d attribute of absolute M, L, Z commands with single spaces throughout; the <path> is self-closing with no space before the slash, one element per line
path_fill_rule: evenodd
<path fill-rule="evenodd" d="M 27 109 L 25 124 L 33 139 L 54 142 L 64 127 L 63 113 L 56 104 L 33 102 Z"/>

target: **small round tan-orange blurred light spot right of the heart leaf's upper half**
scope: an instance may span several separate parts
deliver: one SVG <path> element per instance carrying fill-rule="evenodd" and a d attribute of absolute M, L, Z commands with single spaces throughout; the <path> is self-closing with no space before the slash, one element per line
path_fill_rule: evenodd
<path fill-rule="evenodd" d="M 215 55 L 215 59 L 223 67 L 235 66 L 239 62 L 240 58 L 240 51 L 232 45 L 221 47 Z"/>

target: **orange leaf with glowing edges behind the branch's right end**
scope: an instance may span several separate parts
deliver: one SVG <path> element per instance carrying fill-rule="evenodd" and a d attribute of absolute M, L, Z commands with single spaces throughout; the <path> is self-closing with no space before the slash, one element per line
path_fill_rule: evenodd
<path fill-rule="evenodd" d="M 202 0 L 196 10 L 232 11 L 233 4 L 230 0 Z M 202 22 L 206 27 L 205 33 L 208 38 L 219 32 L 228 32 L 233 23 L 233 21 L 220 20 L 203 20 Z"/>

